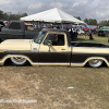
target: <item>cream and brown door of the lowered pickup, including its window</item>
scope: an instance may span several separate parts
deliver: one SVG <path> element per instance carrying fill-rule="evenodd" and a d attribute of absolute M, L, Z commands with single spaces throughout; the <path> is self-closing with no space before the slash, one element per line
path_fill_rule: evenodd
<path fill-rule="evenodd" d="M 50 47 L 48 40 L 52 41 Z M 70 55 L 65 34 L 49 33 L 39 48 L 39 65 L 69 65 Z"/>

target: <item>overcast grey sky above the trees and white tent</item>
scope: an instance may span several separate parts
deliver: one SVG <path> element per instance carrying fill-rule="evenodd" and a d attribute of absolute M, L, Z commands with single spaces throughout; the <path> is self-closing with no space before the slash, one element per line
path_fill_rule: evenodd
<path fill-rule="evenodd" d="M 109 0 L 0 0 L 3 12 L 26 12 L 28 15 L 52 8 L 84 19 L 109 20 Z"/>

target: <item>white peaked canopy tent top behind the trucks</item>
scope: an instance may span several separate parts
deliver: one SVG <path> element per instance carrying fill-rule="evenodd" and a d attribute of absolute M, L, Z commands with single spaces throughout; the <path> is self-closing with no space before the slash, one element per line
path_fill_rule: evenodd
<path fill-rule="evenodd" d="M 77 24 L 86 24 L 83 21 L 80 21 L 72 15 L 55 8 L 51 10 L 47 10 L 40 13 L 36 13 L 33 15 L 28 15 L 25 17 L 21 17 L 21 21 L 39 21 L 39 22 L 51 22 L 51 23 L 77 23 Z"/>

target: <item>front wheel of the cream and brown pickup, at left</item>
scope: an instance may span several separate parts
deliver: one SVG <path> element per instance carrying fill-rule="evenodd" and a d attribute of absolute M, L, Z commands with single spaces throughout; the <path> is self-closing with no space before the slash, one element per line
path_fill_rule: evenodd
<path fill-rule="evenodd" d="M 22 66 L 27 63 L 27 60 L 22 57 L 12 57 L 12 58 L 10 58 L 10 60 L 11 60 L 12 64 L 17 65 L 17 66 Z"/>

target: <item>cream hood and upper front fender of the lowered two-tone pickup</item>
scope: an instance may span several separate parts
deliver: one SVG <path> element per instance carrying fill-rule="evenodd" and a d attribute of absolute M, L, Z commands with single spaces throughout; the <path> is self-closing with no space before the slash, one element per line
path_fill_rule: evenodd
<path fill-rule="evenodd" d="M 0 44 L 0 50 L 31 50 L 31 39 L 8 39 Z"/>

